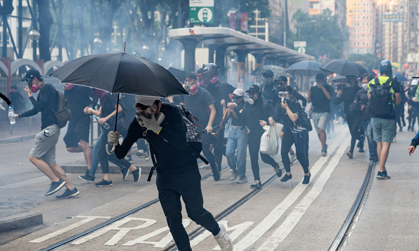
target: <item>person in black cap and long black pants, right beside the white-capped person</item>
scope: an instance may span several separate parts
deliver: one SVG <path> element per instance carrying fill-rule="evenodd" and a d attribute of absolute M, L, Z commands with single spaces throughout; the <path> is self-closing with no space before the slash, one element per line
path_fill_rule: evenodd
<path fill-rule="evenodd" d="M 250 86 L 249 90 L 246 92 L 249 95 L 249 100 L 245 103 L 242 112 L 240 112 L 240 116 L 244 116 L 247 129 L 249 130 L 249 134 L 247 135 L 247 143 L 249 146 L 253 178 L 255 180 L 255 183 L 250 185 L 250 188 L 261 188 L 262 183 L 260 181 L 258 163 L 260 153 L 260 138 L 265 132 L 263 127 L 266 126 L 266 121 L 269 121 L 269 124 L 275 123 L 273 117 L 269 116 L 271 113 L 273 113 L 273 108 L 269 107 L 267 102 L 264 102 L 262 99 L 262 89 L 259 85 L 254 84 Z M 260 157 L 263 162 L 271 165 L 274 168 L 278 177 L 282 176 L 282 170 L 280 169 L 279 164 L 271 156 L 260 153 Z"/>

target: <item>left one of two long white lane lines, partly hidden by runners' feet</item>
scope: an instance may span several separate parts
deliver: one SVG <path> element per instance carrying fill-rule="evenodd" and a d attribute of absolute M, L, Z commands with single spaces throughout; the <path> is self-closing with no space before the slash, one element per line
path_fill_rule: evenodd
<path fill-rule="evenodd" d="M 343 139 L 346 132 L 341 132 L 339 137 L 336 138 L 335 142 L 329 149 L 336 149 L 339 146 L 338 139 Z M 345 146 L 346 148 L 347 146 Z M 313 180 L 319 170 L 327 162 L 329 158 L 320 157 L 320 159 L 311 167 L 311 180 Z M 243 251 L 248 246 L 255 243 L 266 231 L 271 228 L 275 222 L 279 220 L 282 214 L 298 199 L 298 197 L 304 192 L 307 185 L 298 183 L 298 185 L 288 194 L 288 196 L 277 205 L 263 220 L 260 222 L 252 231 L 250 231 L 241 241 L 234 245 L 234 251 Z"/>

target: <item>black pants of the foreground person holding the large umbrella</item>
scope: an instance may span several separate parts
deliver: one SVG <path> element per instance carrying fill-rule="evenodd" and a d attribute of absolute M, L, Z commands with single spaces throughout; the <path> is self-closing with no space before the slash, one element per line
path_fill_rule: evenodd
<path fill-rule="evenodd" d="M 179 251 L 192 250 L 188 234 L 182 225 L 180 196 L 182 196 L 186 212 L 191 220 L 214 235 L 220 232 L 220 227 L 214 216 L 203 208 L 201 175 L 197 167 L 183 173 L 157 172 L 156 185 L 167 225 Z"/>

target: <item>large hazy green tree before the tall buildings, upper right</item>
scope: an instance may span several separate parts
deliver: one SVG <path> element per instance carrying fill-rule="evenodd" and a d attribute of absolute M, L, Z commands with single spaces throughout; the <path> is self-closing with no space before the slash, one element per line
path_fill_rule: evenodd
<path fill-rule="evenodd" d="M 322 15 L 309 16 L 298 10 L 292 17 L 295 24 L 301 24 L 301 41 L 307 41 L 306 53 L 315 57 L 327 55 L 328 58 L 342 57 L 346 33 L 338 25 L 338 17 L 332 16 L 332 11 L 326 9 Z M 298 31 L 296 31 L 298 38 Z"/>

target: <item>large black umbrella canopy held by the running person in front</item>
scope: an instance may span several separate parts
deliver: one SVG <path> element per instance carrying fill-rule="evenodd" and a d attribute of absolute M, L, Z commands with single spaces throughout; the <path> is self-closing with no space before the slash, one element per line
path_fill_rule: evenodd
<path fill-rule="evenodd" d="M 61 83 L 84 85 L 111 93 L 156 97 L 188 94 L 164 67 L 125 52 L 77 58 L 50 76 Z"/>

